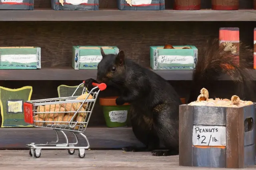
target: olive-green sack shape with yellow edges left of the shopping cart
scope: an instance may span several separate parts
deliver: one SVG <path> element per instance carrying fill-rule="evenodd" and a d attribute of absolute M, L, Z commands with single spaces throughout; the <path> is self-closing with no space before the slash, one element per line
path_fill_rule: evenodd
<path fill-rule="evenodd" d="M 29 101 L 32 87 L 20 89 L 0 87 L 1 127 L 31 127 L 24 121 L 23 103 Z"/>

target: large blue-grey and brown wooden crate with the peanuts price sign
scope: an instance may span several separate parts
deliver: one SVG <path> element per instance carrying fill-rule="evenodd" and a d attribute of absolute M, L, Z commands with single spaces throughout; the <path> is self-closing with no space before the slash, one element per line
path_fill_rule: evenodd
<path fill-rule="evenodd" d="M 255 106 L 255 103 L 237 108 L 180 105 L 180 166 L 254 165 Z"/>

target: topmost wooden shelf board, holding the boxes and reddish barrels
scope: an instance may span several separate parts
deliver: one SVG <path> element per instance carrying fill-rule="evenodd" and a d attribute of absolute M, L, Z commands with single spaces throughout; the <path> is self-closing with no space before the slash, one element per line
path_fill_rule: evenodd
<path fill-rule="evenodd" d="M 256 21 L 256 10 L 99 11 L 0 10 L 0 21 Z"/>

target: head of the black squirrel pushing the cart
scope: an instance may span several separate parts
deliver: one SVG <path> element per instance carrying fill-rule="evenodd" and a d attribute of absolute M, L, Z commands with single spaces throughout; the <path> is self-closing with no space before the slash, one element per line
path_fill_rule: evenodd
<path fill-rule="evenodd" d="M 118 54 L 105 54 L 100 48 L 102 60 L 98 63 L 98 83 L 122 83 L 125 78 L 124 51 Z"/>

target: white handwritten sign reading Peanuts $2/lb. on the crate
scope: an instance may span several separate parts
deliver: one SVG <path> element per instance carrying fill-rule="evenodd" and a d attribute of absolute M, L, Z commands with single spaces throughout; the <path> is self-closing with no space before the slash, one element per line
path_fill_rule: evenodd
<path fill-rule="evenodd" d="M 194 125 L 193 145 L 226 146 L 226 127 Z"/>

